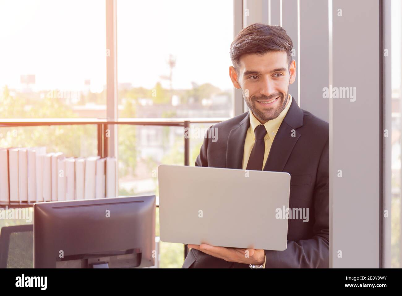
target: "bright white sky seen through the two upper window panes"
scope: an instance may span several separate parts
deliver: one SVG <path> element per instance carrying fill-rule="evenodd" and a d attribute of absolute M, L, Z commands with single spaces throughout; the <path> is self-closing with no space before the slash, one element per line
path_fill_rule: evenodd
<path fill-rule="evenodd" d="M 231 89 L 232 0 L 117 1 L 119 83 L 154 87 L 176 57 L 174 88 L 191 82 Z M 206 17 L 207 16 L 207 17 Z M 0 85 L 35 90 L 106 83 L 104 0 L 0 0 Z M 162 81 L 168 85 L 167 81 Z"/>

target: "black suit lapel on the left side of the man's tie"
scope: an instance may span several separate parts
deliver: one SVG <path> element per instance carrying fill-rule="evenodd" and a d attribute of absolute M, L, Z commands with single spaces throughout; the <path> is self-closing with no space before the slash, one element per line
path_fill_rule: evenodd
<path fill-rule="evenodd" d="M 244 141 L 249 126 L 250 114 L 247 112 L 246 117 L 239 123 L 239 126 L 230 131 L 226 146 L 226 168 L 242 169 Z"/>

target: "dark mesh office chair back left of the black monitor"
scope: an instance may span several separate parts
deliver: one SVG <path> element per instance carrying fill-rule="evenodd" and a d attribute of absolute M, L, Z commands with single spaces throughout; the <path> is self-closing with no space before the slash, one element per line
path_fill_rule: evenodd
<path fill-rule="evenodd" d="M 33 224 L 1 228 L 0 268 L 33 268 Z"/>

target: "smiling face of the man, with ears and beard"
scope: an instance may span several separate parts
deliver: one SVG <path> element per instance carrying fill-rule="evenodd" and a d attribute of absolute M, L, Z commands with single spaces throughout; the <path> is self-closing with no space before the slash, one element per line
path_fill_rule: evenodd
<path fill-rule="evenodd" d="M 277 118 L 285 109 L 289 84 L 295 81 L 295 75 L 295 61 L 289 66 L 284 51 L 243 55 L 239 73 L 230 68 L 234 86 L 242 89 L 244 101 L 262 124 Z"/>

